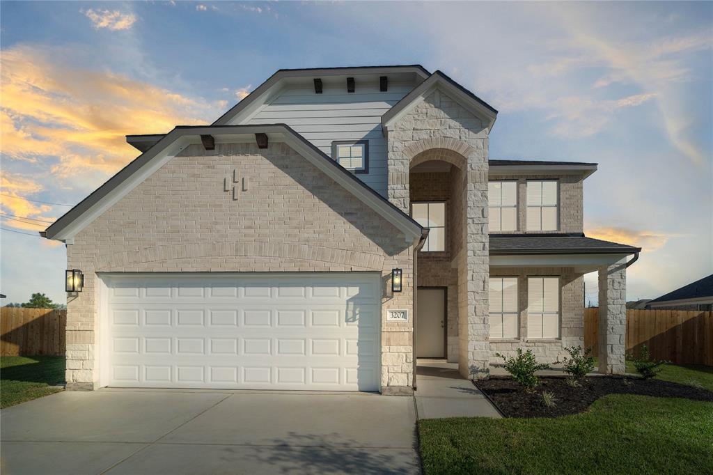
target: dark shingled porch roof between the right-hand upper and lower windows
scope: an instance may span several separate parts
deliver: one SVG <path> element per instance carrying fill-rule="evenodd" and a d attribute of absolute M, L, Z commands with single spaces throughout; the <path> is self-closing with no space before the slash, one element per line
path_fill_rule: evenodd
<path fill-rule="evenodd" d="M 641 247 L 585 237 L 568 235 L 490 235 L 491 255 L 531 254 L 635 254 Z"/>

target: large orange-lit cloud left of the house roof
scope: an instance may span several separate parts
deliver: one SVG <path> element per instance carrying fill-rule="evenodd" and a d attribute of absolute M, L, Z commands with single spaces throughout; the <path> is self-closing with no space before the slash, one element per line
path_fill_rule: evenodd
<path fill-rule="evenodd" d="M 81 177 L 90 188 L 136 156 L 125 135 L 164 133 L 217 113 L 215 103 L 74 68 L 34 46 L 7 49 L 0 66 L 3 158 L 39 162 L 54 182 Z"/>

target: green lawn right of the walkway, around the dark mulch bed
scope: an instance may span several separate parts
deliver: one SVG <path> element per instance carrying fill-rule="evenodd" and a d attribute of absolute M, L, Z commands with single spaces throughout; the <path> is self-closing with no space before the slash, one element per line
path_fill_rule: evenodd
<path fill-rule="evenodd" d="M 713 389 L 710 367 L 658 377 Z M 688 399 L 610 394 L 554 419 L 427 419 L 419 436 L 426 474 L 713 474 L 713 403 Z"/>

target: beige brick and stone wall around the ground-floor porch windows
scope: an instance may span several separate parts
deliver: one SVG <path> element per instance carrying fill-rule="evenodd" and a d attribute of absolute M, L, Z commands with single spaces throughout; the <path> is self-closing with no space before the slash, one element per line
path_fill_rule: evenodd
<path fill-rule="evenodd" d="M 518 277 L 520 335 L 515 339 L 491 339 L 491 363 L 502 364 L 496 353 L 515 356 L 515 349 L 532 349 L 538 362 L 554 363 L 568 355 L 564 347 L 584 345 L 584 277 L 568 267 L 493 267 L 491 277 Z M 560 277 L 560 338 L 528 339 L 528 277 Z"/>

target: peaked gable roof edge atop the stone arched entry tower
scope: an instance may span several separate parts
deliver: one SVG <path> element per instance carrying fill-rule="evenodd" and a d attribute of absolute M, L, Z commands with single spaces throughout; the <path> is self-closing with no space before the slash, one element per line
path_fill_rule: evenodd
<path fill-rule="evenodd" d="M 426 81 L 406 94 L 401 101 L 397 102 L 394 107 L 390 108 L 389 111 L 386 111 L 386 113 L 381 116 L 381 128 L 384 130 L 384 134 L 386 134 L 386 131 L 394 122 L 398 121 L 408 113 L 411 108 L 423 101 L 426 96 L 429 96 L 429 94 L 438 87 L 443 88 L 443 90 L 448 93 L 448 96 L 460 103 L 461 106 L 467 108 L 474 115 L 485 118 L 486 121 L 488 121 L 488 131 L 490 131 L 498 116 L 496 108 L 456 83 L 456 81 L 453 81 L 453 79 L 448 77 L 443 71 L 436 71 L 431 74 Z"/>

